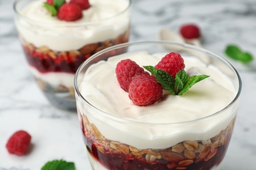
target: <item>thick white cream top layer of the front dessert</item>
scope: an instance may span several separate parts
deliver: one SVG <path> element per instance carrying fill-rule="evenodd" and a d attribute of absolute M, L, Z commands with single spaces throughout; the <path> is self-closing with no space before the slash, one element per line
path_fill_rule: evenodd
<path fill-rule="evenodd" d="M 165 93 L 163 99 L 154 105 L 133 105 L 128 93 L 117 82 L 117 63 L 130 58 L 141 67 L 156 65 L 163 56 L 165 54 L 128 53 L 89 67 L 79 90 L 91 105 L 106 114 L 82 103 L 77 107 L 87 113 L 89 122 L 95 124 L 104 137 L 140 149 L 168 148 L 185 140 L 210 139 L 235 118 L 236 104 L 221 114 L 210 116 L 234 99 L 236 90 L 232 82 L 213 65 L 205 65 L 199 59 L 186 56 L 183 58 L 188 75 L 209 75 L 209 78 L 192 86 L 184 95 Z"/>

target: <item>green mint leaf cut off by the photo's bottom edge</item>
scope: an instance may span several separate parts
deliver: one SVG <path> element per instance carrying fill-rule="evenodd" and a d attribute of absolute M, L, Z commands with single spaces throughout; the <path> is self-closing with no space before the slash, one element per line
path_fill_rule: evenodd
<path fill-rule="evenodd" d="M 48 161 L 41 170 L 75 170 L 75 163 L 64 160 Z"/>

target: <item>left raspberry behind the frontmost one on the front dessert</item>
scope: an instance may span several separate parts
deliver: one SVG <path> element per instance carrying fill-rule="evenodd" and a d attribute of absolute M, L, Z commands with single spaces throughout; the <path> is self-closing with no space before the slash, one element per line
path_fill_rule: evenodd
<path fill-rule="evenodd" d="M 137 65 L 137 63 L 135 63 L 135 61 L 132 61 L 131 59 L 123 59 L 119 63 L 117 63 L 117 81 L 119 82 L 121 88 L 125 90 L 125 92 L 128 92 L 129 85 L 131 83 L 131 80 L 133 79 L 133 76 L 140 74 L 149 75 L 148 72 L 144 71 L 142 67 Z"/>

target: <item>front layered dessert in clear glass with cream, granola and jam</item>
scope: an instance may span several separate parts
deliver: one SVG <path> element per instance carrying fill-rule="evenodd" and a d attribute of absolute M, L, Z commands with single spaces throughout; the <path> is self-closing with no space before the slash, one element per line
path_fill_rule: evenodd
<path fill-rule="evenodd" d="M 123 49 L 127 52 L 114 55 Z M 188 76 L 207 78 L 182 95 L 163 89 L 153 104 L 135 105 L 130 92 L 139 75 L 133 77 L 126 92 L 117 80 L 117 65 L 131 59 L 141 68 L 156 67 L 161 58 L 173 53 L 182 57 L 182 69 Z M 74 83 L 77 114 L 93 169 L 221 167 L 234 129 L 242 82 L 236 69 L 217 54 L 177 42 L 128 42 L 83 62 Z"/>

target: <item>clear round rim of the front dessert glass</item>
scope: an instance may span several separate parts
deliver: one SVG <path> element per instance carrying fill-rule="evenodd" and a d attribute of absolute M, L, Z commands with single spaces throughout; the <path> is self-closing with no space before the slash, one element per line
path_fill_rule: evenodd
<path fill-rule="evenodd" d="M 232 71 L 234 71 L 234 74 L 236 75 L 236 80 L 238 80 L 238 90 L 236 92 L 236 95 L 234 96 L 234 98 L 232 99 L 232 101 L 226 105 L 226 107 L 223 107 L 223 109 L 213 113 L 213 114 L 210 114 L 208 116 L 204 116 L 202 118 L 197 118 L 197 119 L 194 119 L 194 120 L 188 120 L 188 121 L 182 121 L 182 122 L 173 122 L 173 123 L 154 123 L 154 122 L 141 122 L 139 120 L 131 120 L 129 118 L 121 118 L 119 116 L 114 116 L 108 112 L 104 112 L 98 108 L 96 108 L 94 105 L 92 105 L 91 103 L 89 103 L 89 101 L 87 101 L 85 99 L 85 97 L 83 97 L 83 95 L 80 93 L 80 90 L 79 90 L 79 87 L 78 87 L 78 84 L 77 84 L 77 76 L 79 75 L 79 73 L 81 72 L 81 69 L 83 69 L 83 67 L 89 63 L 91 60 L 95 59 L 97 56 L 100 56 L 106 52 L 109 52 L 110 50 L 114 50 L 114 49 L 117 49 L 117 48 L 123 48 L 123 47 L 129 47 L 131 45 L 136 45 L 136 44 L 169 44 L 169 45 L 177 45 L 177 46 L 182 46 L 182 47 L 185 47 L 185 48 L 190 48 L 192 50 L 198 50 L 200 52 L 205 52 L 205 53 L 208 53 L 208 54 L 211 54 L 211 56 L 214 56 L 215 58 L 217 59 L 220 59 L 223 63 L 226 64 L 227 67 L 230 67 L 230 69 L 232 69 Z M 85 103 L 87 105 L 87 107 L 89 107 L 90 109 L 93 109 L 95 110 L 97 113 L 101 114 L 102 116 L 104 117 L 108 117 L 108 118 L 111 118 L 112 120 L 117 120 L 117 121 L 122 121 L 122 122 L 134 122 L 134 123 L 139 123 L 139 124 L 152 124 L 152 125 L 175 125 L 175 124 L 186 124 L 186 123 L 190 123 L 190 122 L 197 122 L 197 121 L 200 121 L 200 120 L 205 120 L 207 118 L 211 118 L 213 116 L 217 116 L 219 114 L 221 114 L 222 112 L 224 112 L 224 110 L 230 108 L 233 104 L 236 103 L 236 101 L 238 101 L 238 98 L 240 96 L 240 93 L 242 91 L 242 79 L 238 73 L 238 71 L 236 71 L 236 69 L 224 58 L 222 58 L 221 56 L 209 51 L 209 50 L 206 50 L 205 48 L 202 48 L 202 47 L 198 47 L 198 46 L 194 46 L 194 45 L 191 45 L 191 44 L 183 44 L 183 43 L 180 43 L 180 42 L 173 42 L 173 41 L 135 41 L 135 42 L 126 42 L 126 43 L 122 43 L 122 44 L 117 44 L 115 46 L 110 46 L 108 48 L 105 48 L 104 50 L 101 50 L 99 52 L 96 52 L 95 54 L 93 54 L 93 56 L 91 56 L 90 58 L 86 59 L 85 61 L 83 61 L 83 63 L 81 63 L 81 65 L 78 67 L 77 71 L 75 72 L 75 76 L 74 76 L 74 88 L 75 88 L 75 92 L 77 93 L 78 97 L 81 97 L 81 99 L 83 100 L 83 103 Z"/>

